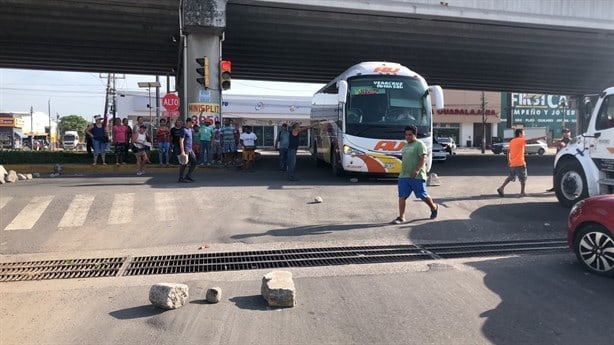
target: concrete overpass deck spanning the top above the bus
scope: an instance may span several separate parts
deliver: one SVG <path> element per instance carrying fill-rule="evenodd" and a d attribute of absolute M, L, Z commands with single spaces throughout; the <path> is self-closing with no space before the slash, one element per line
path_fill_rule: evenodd
<path fill-rule="evenodd" d="M 201 14 L 213 29 L 190 26 Z M 181 27 L 223 31 L 223 58 L 241 79 L 326 82 L 387 60 L 445 88 L 614 85 L 609 0 L 0 0 L 0 67 L 174 75 Z"/>

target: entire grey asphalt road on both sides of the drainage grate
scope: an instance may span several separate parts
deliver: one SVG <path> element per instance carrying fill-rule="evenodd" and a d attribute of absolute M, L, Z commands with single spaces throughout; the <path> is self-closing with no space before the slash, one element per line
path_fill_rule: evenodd
<path fill-rule="evenodd" d="M 433 171 L 440 215 L 394 180 L 332 177 L 298 162 L 297 182 L 264 156 L 256 171 L 176 168 L 138 177 L 91 172 L 0 187 L 0 262 L 388 244 L 563 239 L 568 210 L 553 156 L 528 157 L 528 197 L 503 156 L 459 154 Z M 320 196 L 322 203 L 315 203 Z M 268 308 L 254 269 L 0 283 L 1 344 L 610 344 L 614 280 L 569 252 L 289 269 L 297 305 Z M 149 287 L 190 287 L 182 308 L 149 304 Z M 219 286 L 219 304 L 205 291 Z"/>

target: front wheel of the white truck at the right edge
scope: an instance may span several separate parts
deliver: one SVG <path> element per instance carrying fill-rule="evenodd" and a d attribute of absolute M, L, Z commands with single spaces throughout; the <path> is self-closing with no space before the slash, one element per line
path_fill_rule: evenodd
<path fill-rule="evenodd" d="M 554 190 L 559 203 L 566 207 L 588 198 L 588 184 L 582 166 L 576 160 L 563 162 L 554 178 Z"/>

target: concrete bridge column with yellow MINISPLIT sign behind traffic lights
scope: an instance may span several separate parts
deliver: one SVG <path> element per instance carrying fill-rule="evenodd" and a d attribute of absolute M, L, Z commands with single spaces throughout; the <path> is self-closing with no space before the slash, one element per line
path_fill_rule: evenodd
<path fill-rule="evenodd" d="M 221 87 L 220 60 L 227 0 L 184 0 L 181 8 L 183 61 L 181 89 L 182 116 L 202 116 L 220 119 Z M 202 76 L 196 69 L 202 66 L 196 59 L 209 60 L 209 87 L 197 82 Z"/>

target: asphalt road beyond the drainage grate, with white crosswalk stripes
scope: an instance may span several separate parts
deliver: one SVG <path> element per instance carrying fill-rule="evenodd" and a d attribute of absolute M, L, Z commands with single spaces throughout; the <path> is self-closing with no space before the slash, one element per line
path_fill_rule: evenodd
<path fill-rule="evenodd" d="M 264 156 L 255 172 L 199 169 L 192 184 L 177 183 L 177 168 L 145 176 L 132 170 L 85 171 L 4 185 L 0 196 L 0 253 L 73 253 L 208 244 L 352 242 L 437 243 L 564 238 L 568 210 L 551 185 L 553 156 L 528 157 L 528 197 L 506 176 L 501 155 L 457 155 L 435 164 L 441 185 L 428 191 L 439 217 L 408 201 L 408 222 L 397 216 L 396 181 L 333 177 L 298 162 L 299 181 Z M 87 170 L 88 167 L 84 167 Z M 45 176 L 45 175 L 43 175 Z M 315 203 L 316 197 L 323 199 Z"/>

